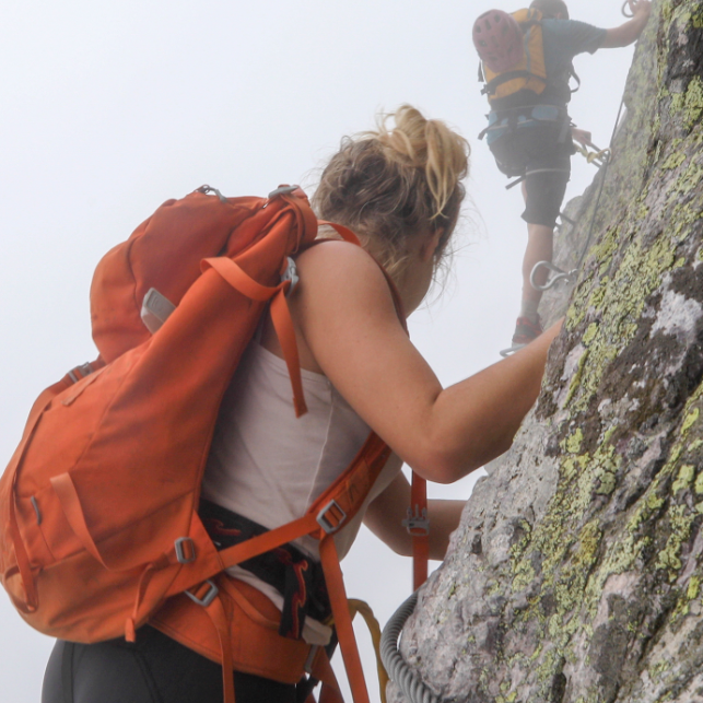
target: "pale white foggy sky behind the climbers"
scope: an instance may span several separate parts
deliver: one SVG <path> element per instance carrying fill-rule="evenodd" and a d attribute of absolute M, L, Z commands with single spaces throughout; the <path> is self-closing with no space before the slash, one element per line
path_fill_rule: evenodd
<path fill-rule="evenodd" d="M 445 295 L 411 318 L 411 335 L 444 384 L 509 344 L 526 242 L 519 189 L 504 190 L 476 139 L 473 20 L 490 3 L 415 0 L 23 0 L 0 5 L 0 466 L 38 392 L 93 359 L 87 292 L 101 256 L 165 199 L 202 184 L 266 195 L 312 191 L 339 139 L 401 103 L 447 120 L 473 148 L 464 227 Z M 520 5 L 505 5 L 506 10 Z M 619 0 L 579 0 L 572 16 L 623 22 Z M 606 147 L 632 49 L 577 57 L 574 121 Z M 567 197 L 595 168 L 581 157 Z M 468 497 L 472 478 L 432 487 Z M 363 532 L 344 561 L 349 595 L 382 624 L 410 591 L 410 564 Z M 361 634 L 370 661 L 366 635 Z M 35 703 L 52 642 L 0 596 L 0 691 Z M 373 665 L 372 700 L 377 700 Z"/>

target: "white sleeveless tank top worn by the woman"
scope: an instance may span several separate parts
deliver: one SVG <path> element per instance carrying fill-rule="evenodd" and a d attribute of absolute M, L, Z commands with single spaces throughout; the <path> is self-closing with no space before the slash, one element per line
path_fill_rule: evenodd
<path fill-rule="evenodd" d="M 321 374 L 302 370 L 307 413 L 296 418 L 285 362 L 253 341 L 227 388 L 202 482 L 202 497 L 272 529 L 302 517 L 349 466 L 368 426 Z M 349 551 L 368 503 L 395 478 L 388 466 L 366 503 L 335 536 L 342 558 Z M 319 561 L 317 540 L 295 541 Z M 266 594 L 279 609 L 276 588 L 233 566 L 232 576 Z M 307 618 L 303 637 L 327 644 L 330 629 Z"/>

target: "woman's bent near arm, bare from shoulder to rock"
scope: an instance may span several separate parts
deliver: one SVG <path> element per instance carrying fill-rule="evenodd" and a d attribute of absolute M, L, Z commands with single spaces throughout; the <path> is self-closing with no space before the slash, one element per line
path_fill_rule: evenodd
<path fill-rule="evenodd" d="M 359 247 L 331 242 L 297 259 L 300 345 L 420 476 L 450 483 L 505 452 L 540 389 L 553 327 L 446 390 L 400 326 L 388 285 Z"/>

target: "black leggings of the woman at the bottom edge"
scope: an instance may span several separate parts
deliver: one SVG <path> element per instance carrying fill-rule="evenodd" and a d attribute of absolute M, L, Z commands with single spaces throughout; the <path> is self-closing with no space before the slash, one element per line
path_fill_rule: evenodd
<path fill-rule="evenodd" d="M 295 703 L 294 686 L 234 672 L 236 703 Z M 59 640 L 44 676 L 42 703 L 222 703 L 222 668 L 144 626 L 137 642 Z"/>

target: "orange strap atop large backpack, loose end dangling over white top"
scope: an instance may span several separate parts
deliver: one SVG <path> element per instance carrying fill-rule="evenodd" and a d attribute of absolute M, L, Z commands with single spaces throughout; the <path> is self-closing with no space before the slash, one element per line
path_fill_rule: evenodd
<path fill-rule="evenodd" d="M 282 281 L 278 285 L 268 286 L 255 281 L 248 273 L 245 273 L 238 263 L 227 257 L 204 259 L 201 268 L 214 269 L 233 289 L 239 291 L 254 301 L 265 303 L 271 301 L 271 320 L 278 335 L 283 359 L 291 377 L 293 387 L 293 405 L 295 417 L 300 418 L 307 412 L 303 395 L 303 379 L 301 377 L 301 364 L 297 354 L 297 341 L 295 328 L 291 319 L 291 312 L 288 307 L 285 294 L 291 286 L 290 281 Z"/>

